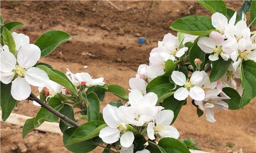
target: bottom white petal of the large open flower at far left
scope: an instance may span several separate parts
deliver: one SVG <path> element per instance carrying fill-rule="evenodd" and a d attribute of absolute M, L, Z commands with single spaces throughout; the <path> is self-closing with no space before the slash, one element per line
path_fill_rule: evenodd
<path fill-rule="evenodd" d="M 11 94 L 16 100 L 24 100 L 29 97 L 31 93 L 31 87 L 24 78 L 17 77 L 12 81 Z"/>

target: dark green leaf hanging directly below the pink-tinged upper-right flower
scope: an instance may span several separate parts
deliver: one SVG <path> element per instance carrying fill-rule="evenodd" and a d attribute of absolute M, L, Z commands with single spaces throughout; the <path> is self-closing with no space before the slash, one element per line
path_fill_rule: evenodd
<path fill-rule="evenodd" d="M 212 71 L 210 73 L 210 81 L 215 82 L 218 79 L 221 79 L 221 77 L 223 77 L 226 74 L 227 69 L 229 68 L 231 62 L 232 62 L 231 59 L 225 61 L 221 57 L 219 57 L 219 59 L 216 61 L 212 61 Z"/>

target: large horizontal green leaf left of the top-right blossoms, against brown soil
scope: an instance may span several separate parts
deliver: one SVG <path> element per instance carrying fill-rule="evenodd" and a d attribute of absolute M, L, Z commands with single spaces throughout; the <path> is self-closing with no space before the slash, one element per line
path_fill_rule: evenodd
<path fill-rule="evenodd" d="M 197 36 L 206 36 L 212 31 L 217 31 L 212 26 L 212 20 L 205 16 L 187 16 L 176 20 L 170 26 L 175 31 L 182 32 L 184 34 L 191 34 Z"/>

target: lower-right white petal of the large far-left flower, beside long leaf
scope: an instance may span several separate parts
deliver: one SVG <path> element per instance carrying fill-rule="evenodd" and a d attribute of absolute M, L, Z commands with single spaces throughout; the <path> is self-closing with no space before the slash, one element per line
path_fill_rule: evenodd
<path fill-rule="evenodd" d="M 49 77 L 47 73 L 40 68 L 29 68 L 25 73 L 24 73 L 24 78 L 30 85 L 34 85 L 37 87 L 46 85 L 47 82 L 49 81 Z"/>

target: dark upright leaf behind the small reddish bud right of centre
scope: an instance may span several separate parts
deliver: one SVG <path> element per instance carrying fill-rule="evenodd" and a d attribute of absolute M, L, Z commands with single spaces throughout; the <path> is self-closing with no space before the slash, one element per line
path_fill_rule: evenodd
<path fill-rule="evenodd" d="M 202 51 L 200 47 L 198 47 L 197 41 L 194 42 L 194 45 L 192 46 L 192 48 L 189 51 L 189 61 L 194 68 L 196 68 L 196 65 L 194 62 L 196 58 L 201 60 L 200 66 L 201 66 L 201 68 L 203 68 L 204 62 L 205 62 L 205 52 Z"/>

